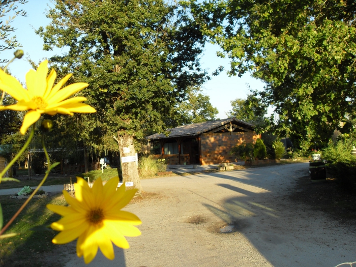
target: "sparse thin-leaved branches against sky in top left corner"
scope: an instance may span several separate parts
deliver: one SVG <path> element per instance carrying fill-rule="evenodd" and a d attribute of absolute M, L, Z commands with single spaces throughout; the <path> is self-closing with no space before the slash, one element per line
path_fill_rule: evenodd
<path fill-rule="evenodd" d="M 21 47 L 21 44 L 16 40 L 16 36 L 10 37 L 10 33 L 15 32 L 14 27 L 12 27 L 10 23 L 13 22 L 17 16 L 26 16 L 26 12 L 22 9 L 19 10 L 18 6 L 15 5 L 25 3 L 27 3 L 26 0 L 0 0 L 0 19 L 9 15 L 9 19 L 7 19 L 5 23 L 4 20 L 0 21 L 0 40 L 2 41 L 2 44 L 0 44 L 0 51 Z M 9 14 L 11 11 L 12 13 Z M 0 63 L 6 62 L 8 62 L 8 60 L 0 59 Z"/>

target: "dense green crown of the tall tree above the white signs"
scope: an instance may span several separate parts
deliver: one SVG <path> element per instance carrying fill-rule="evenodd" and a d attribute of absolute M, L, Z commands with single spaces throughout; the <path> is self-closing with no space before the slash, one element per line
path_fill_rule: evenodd
<path fill-rule="evenodd" d="M 50 58 L 59 73 L 90 84 L 82 95 L 97 113 L 82 116 L 85 146 L 98 145 L 95 132 L 105 146 L 113 135 L 131 145 L 147 131 L 164 131 L 187 87 L 205 80 L 198 61 L 204 38 L 183 9 L 152 0 L 55 3 L 37 33 L 45 50 L 68 47 Z M 126 179 L 140 189 L 138 175 Z"/>

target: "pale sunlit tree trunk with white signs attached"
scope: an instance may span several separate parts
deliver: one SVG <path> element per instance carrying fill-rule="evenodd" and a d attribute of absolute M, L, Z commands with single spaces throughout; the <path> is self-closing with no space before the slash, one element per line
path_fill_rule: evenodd
<path fill-rule="evenodd" d="M 138 190 L 137 194 L 141 195 L 141 182 L 138 176 L 138 169 L 135 161 L 123 162 L 124 157 L 136 156 L 135 147 L 133 144 L 133 137 L 129 135 L 117 136 L 115 140 L 118 143 L 118 150 L 120 151 L 120 161 L 123 172 L 123 183 L 133 182 L 134 188 Z M 124 160 L 125 161 L 125 160 Z"/>

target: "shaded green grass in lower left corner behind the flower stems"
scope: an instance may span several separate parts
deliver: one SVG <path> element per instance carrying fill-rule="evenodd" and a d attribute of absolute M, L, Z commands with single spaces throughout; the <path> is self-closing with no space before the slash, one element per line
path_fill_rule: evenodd
<path fill-rule="evenodd" d="M 6 224 L 24 200 L 0 196 L 0 202 L 3 207 L 4 224 Z M 0 240 L 0 266 L 32 267 L 45 265 L 41 256 L 56 248 L 51 240 L 57 232 L 44 226 L 61 218 L 46 209 L 47 203 L 64 205 L 66 201 L 62 194 L 32 199 L 5 232 L 5 234 L 13 232 L 19 234 L 12 238 Z M 36 227 L 36 230 L 31 230 L 34 227 Z"/>

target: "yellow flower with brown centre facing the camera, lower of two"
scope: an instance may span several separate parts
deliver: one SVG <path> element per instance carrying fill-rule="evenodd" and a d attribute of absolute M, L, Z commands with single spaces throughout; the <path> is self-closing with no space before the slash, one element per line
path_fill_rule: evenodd
<path fill-rule="evenodd" d="M 52 242 L 66 244 L 78 238 L 77 255 L 84 255 L 85 263 L 94 259 L 98 247 L 108 259 L 114 258 L 112 243 L 128 249 L 129 243 L 124 235 L 140 235 L 140 230 L 133 225 L 139 225 L 141 221 L 132 213 L 120 211 L 136 190 L 125 191 L 123 184 L 116 191 L 118 182 L 118 177 L 114 177 L 103 186 L 99 178 L 91 189 L 85 180 L 77 177 L 74 184 L 76 198 L 63 191 L 70 206 L 47 205 L 49 210 L 64 216 L 51 224 L 52 229 L 61 231 Z"/>

